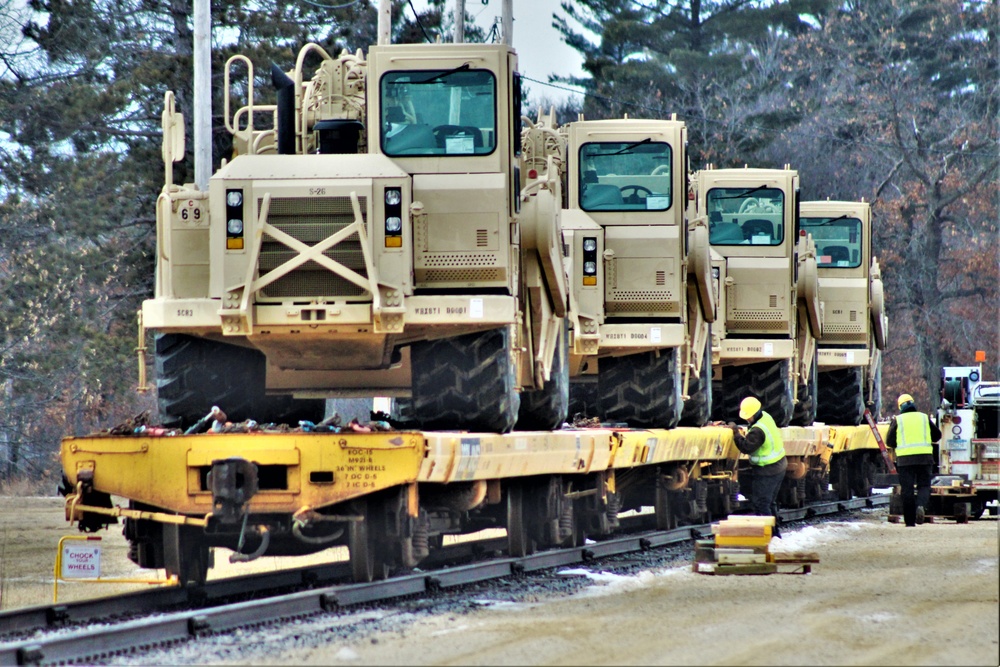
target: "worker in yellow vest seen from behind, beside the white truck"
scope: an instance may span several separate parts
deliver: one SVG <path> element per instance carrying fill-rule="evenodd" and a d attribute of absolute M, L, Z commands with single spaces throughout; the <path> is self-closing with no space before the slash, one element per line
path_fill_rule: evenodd
<path fill-rule="evenodd" d="M 901 394 L 896 403 L 899 414 L 889 425 L 885 445 L 896 450 L 903 522 L 907 526 L 916 526 L 924 522 L 924 513 L 931 501 L 934 443 L 941 439 L 941 430 L 930 417 L 917 410 L 909 394 Z M 914 485 L 917 488 L 916 497 L 913 494 Z"/>

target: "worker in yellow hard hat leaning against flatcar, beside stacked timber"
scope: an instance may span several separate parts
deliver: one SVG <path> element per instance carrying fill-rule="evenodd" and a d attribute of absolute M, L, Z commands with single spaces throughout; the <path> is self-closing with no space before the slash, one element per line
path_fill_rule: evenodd
<path fill-rule="evenodd" d="M 754 396 L 747 396 L 740 403 L 740 419 L 748 423 L 746 434 L 735 424 L 731 428 L 736 448 L 750 457 L 750 468 L 753 470 L 750 504 L 754 514 L 774 517 L 773 534 L 781 537 L 778 529 L 778 491 L 788 468 L 781 430 Z"/>

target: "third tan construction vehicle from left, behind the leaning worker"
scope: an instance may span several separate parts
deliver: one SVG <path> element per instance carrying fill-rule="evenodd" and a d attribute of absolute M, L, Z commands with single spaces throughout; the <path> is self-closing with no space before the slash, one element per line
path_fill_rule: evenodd
<path fill-rule="evenodd" d="M 754 395 L 778 426 L 808 426 L 823 311 L 815 246 L 799 229 L 798 172 L 709 167 L 693 180 L 692 217 L 707 219 L 719 295 L 713 417 L 736 421 Z"/>

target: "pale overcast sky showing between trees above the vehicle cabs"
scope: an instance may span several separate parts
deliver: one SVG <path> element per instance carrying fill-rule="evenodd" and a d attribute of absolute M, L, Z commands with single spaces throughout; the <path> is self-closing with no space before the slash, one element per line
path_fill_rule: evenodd
<path fill-rule="evenodd" d="M 422 0 L 414 0 L 413 4 L 420 10 L 427 6 Z M 454 10 L 454 0 L 448 0 L 446 7 L 449 11 Z M 475 19 L 477 26 L 488 32 L 494 18 L 500 19 L 501 0 L 488 0 L 485 4 L 482 0 L 465 0 L 465 12 Z M 559 0 L 514 0 L 514 49 L 517 51 L 518 69 L 535 81 L 548 82 L 550 74 L 583 76 L 580 69 L 583 58 L 566 46 L 562 36 L 552 27 L 553 13 L 566 14 L 559 6 Z M 575 24 L 571 21 L 570 25 Z M 552 101 L 579 98 L 579 95 L 532 81 L 528 82 L 528 90 L 534 100 L 542 97 Z"/>

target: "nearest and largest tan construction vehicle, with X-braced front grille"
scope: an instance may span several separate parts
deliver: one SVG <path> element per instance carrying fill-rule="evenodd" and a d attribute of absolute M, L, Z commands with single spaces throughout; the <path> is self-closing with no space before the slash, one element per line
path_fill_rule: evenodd
<path fill-rule="evenodd" d="M 234 56 L 234 155 L 208 192 L 173 183 L 183 119 L 167 94 L 141 313 L 166 424 L 212 405 L 315 419 L 315 399 L 372 396 L 411 398 L 425 429 L 562 423 L 560 183 L 519 171 L 516 67 L 505 44 L 385 44 L 367 60 L 309 44 L 261 104 Z"/>

